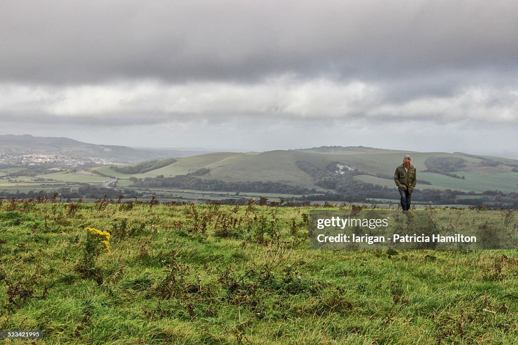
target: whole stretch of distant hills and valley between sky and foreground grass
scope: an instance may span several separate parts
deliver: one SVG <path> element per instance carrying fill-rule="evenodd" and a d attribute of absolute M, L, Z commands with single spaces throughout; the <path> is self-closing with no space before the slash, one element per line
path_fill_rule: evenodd
<path fill-rule="evenodd" d="M 34 155 L 32 159 L 44 157 L 50 160 L 51 163 L 43 168 L 25 164 L 26 169 L 22 168 L 21 172 L 9 169 L 0 171 L 5 188 L 16 193 L 21 187 L 39 190 L 36 188 L 44 187 L 49 182 L 100 184 L 104 181 L 103 186 L 111 186 L 112 190 L 116 187 L 128 188 L 130 191 L 126 191 L 126 194 L 178 196 L 183 193 L 182 196 L 190 198 L 188 200 L 208 199 L 207 192 L 221 192 L 226 198 L 242 198 L 244 193 L 252 192 L 256 197 L 264 196 L 265 193 L 282 194 L 279 198 L 287 197 L 300 202 L 387 204 L 397 203 L 399 193 L 394 184 L 394 171 L 402 163 L 405 154 L 410 154 L 412 164 L 418 171 L 418 185 L 412 194 L 413 201 L 426 205 L 435 203 L 518 208 L 518 160 L 494 156 L 407 152 L 363 146 L 324 146 L 263 153 L 217 152 L 153 159 L 156 156 L 167 157 L 167 151 L 156 153 L 124 146 L 92 145 L 66 138 L 2 137 L 0 149 L 3 148 L 4 152 L 18 150 L 19 153 L 51 152 L 56 155 L 46 158 L 45 155 Z M 7 140 L 6 144 L 6 139 L 11 140 Z M 61 168 L 48 167 L 59 164 L 62 158 L 57 155 L 81 157 L 79 159 L 103 157 L 106 164 L 90 164 L 89 168 L 87 161 L 83 164 L 83 170 L 77 171 L 74 168 L 77 165 L 73 166 L 65 159 Z M 0 160 L 6 159 L 5 156 L 0 154 Z M 133 163 L 114 164 L 117 161 Z M 99 177 L 103 178 L 99 180 Z M 66 187 L 68 191 L 71 190 Z M 7 189 L 6 196 L 9 195 Z M 67 198 L 76 195 L 67 192 L 66 188 L 62 192 Z"/>

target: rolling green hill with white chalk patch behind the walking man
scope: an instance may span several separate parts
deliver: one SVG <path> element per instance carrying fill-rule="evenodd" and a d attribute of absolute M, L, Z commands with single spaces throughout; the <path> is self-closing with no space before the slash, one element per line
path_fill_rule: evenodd
<path fill-rule="evenodd" d="M 394 170 L 407 153 L 411 154 L 412 163 L 418 170 L 420 190 L 518 192 L 518 160 L 464 153 L 398 152 L 362 146 L 260 154 L 210 153 L 179 158 L 165 167 L 141 174 L 120 174 L 120 169 L 114 171 L 109 167 L 103 167 L 103 172 L 118 178 L 167 178 L 189 174 L 203 181 L 271 182 L 308 190 L 336 190 L 340 184 L 346 184 L 346 180 L 349 185 L 362 182 L 394 188 Z"/>

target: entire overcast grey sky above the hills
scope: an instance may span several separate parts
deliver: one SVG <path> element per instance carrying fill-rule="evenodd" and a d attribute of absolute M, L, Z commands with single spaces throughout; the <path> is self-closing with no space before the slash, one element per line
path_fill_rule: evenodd
<path fill-rule="evenodd" d="M 518 3 L 0 0 L 0 123 L 96 144 L 518 158 Z"/>

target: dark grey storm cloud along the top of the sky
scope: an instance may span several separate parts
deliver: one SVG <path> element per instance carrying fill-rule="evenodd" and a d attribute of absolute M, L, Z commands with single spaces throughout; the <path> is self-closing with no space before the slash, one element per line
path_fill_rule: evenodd
<path fill-rule="evenodd" d="M 3 2 L 0 78 L 255 82 L 516 72 L 508 1 Z"/>

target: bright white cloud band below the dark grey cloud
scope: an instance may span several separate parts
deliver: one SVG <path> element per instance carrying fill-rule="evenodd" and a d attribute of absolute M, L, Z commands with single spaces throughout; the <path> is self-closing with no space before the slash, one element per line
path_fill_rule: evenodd
<path fill-rule="evenodd" d="M 451 95 L 391 101 L 378 84 L 280 78 L 257 84 L 133 82 L 81 86 L 0 85 L 0 114 L 11 121 L 91 118 L 92 125 L 235 116 L 518 124 L 518 90 L 472 86 Z M 100 122 L 99 122 L 100 121 Z"/>

